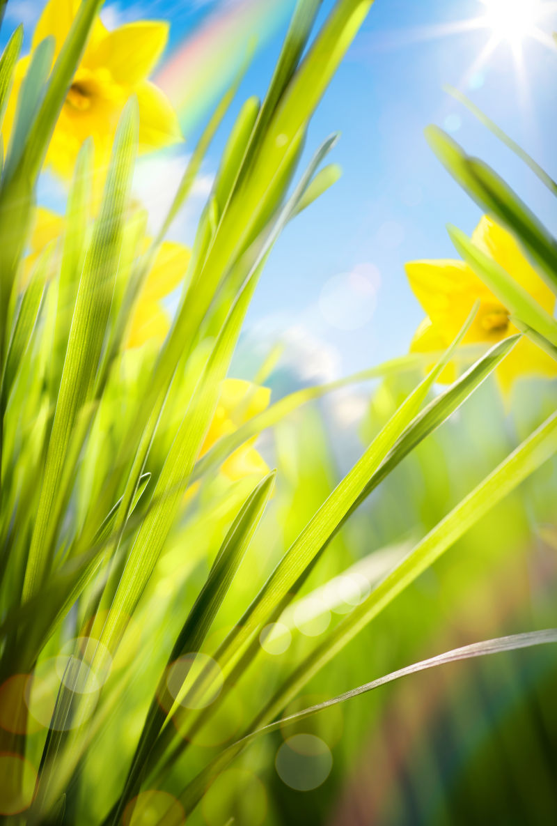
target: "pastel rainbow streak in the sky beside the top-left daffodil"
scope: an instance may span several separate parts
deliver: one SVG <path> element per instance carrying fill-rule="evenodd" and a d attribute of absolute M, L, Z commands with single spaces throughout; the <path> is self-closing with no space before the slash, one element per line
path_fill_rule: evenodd
<path fill-rule="evenodd" d="M 186 136 L 224 92 L 253 41 L 261 49 L 293 7 L 294 0 L 222 0 L 177 46 L 155 83 L 176 108 Z"/>

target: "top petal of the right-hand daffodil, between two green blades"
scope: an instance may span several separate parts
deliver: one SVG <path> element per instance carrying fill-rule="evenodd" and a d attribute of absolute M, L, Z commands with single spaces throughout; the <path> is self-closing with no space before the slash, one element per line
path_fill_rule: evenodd
<path fill-rule="evenodd" d="M 553 313 L 555 295 L 536 273 L 510 232 L 504 230 L 489 216 L 484 216 L 474 230 L 472 240 L 536 298 L 538 304 Z"/>

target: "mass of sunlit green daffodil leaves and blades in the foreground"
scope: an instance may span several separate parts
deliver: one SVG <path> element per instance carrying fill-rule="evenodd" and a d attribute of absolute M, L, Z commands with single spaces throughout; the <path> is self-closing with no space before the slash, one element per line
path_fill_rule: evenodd
<path fill-rule="evenodd" d="M 348 520 L 369 506 L 371 494 L 383 490 L 380 486 L 389 483 L 403 460 L 475 395 L 519 338 L 504 339 L 487 353 L 460 348 L 474 322 L 474 307 L 451 348 L 437 354 L 435 366 L 418 382 L 415 374 L 426 363 L 410 355 L 304 388 L 240 423 L 234 433 L 224 433 L 203 453 L 267 258 L 286 225 L 338 179 L 336 164 L 322 167 L 336 143 L 333 135 L 293 183 L 310 118 L 371 5 L 371 0 L 338 0 L 309 43 L 320 2 L 298 3 L 267 96 L 261 105 L 249 98 L 238 114 L 201 216 L 177 314 L 160 349 L 147 344 L 126 351 L 126 331 L 242 74 L 206 126 L 155 240 L 147 242 L 144 214 L 130 200 L 139 131 L 132 99 L 116 131 L 97 216 L 90 220 L 94 150 L 87 141 L 68 195 L 64 237 L 47 246 L 27 278 L 37 178 L 100 3 L 81 4 L 50 74 L 52 43 L 45 40 L 35 50 L 21 86 L 0 187 L 2 684 L 18 674 L 40 675 L 53 657 L 59 668 L 62 650 L 65 665 L 56 673 L 43 729 L 34 732 L 28 726 L 31 700 L 21 695 L 13 712 L 18 726 L 2 731 L 0 751 L 29 757 L 39 770 L 35 800 L 14 824 L 108 826 L 120 823 L 124 812 L 129 822 L 135 795 L 155 779 L 168 782 L 177 759 L 186 767 L 177 794 L 189 815 L 216 771 L 253 738 L 278 728 L 276 717 L 333 657 L 557 452 L 553 414 L 517 449 L 493 462 L 495 470 L 489 468 L 470 484 L 471 492 L 465 491 L 319 643 L 309 650 L 300 647 L 294 662 L 270 666 L 268 678 L 263 667 L 254 679 L 267 626 L 280 620 L 316 578 L 321 582 L 325 564 L 334 576 L 338 563 L 353 561 L 343 544 Z M 2 55 L 0 112 L 21 37 L 18 29 Z M 555 240 L 549 232 L 491 170 L 439 131 L 430 131 L 430 139 L 455 177 L 516 233 L 555 287 Z M 517 317 L 517 326 L 555 355 L 555 320 L 460 233 L 454 231 L 453 237 L 479 277 Z M 446 364 L 459 359 L 468 369 L 435 395 Z M 263 430 L 284 425 L 310 401 L 356 382 L 404 374 L 415 386 L 340 480 L 334 478 L 330 486 L 329 480 L 323 482 L 323 457 L 317 470 L 301 469 L 289 524 L 273 526 L 275 471 L 262 481 L 247 478 L 219 488 L 218 469 L 238 448 Z M 277 455 L 288 477 L 287 466 L 294 467 L 296 457 L 282 461 L 281 451 Z M 290 476 L 295 478 L 295 472 Z M 319 502 L 312 501 L 308 512 L 314 491 Z M 271 533 L 284 539 L 286 548 L 279 545 L 274 557 L 264 557 L 260 537 L 271 547 Z M 348 558 L 341 560 L 342 555 Z M 167 577 L 165 565 L 171 572 Z M 160 594 L 168 580 L 176 585 L 174 602 Z M 224 616 L 229 623 L 219 624 Z M 227 625 L 232 626 L 228 633 L 211 639 Z M 361 689 L 346 693 L 345 687 L 336 700 L 289 719 L 303 719 L 395 676 L 456 657 L 549 641 L 555 641 L 555 632 L 479 643 Z M 193 686 L 185 675 L 171 691 L 168 679 L 175 663 L 207 652 L 216 676 L 214 669 L 202 667 Z M 191 705 L 191 697 L 213 691 L 219 681 L 210 705 Z M 238 686 L 253 719 L 219 757 L 196 762 L 192 738 L 225 710 Z M 116 749 L 114 766 L 102 757 L 103 748 Z M 97 781 L 98 799 L 83 801 L 80 790 L 87 793 Z"/>

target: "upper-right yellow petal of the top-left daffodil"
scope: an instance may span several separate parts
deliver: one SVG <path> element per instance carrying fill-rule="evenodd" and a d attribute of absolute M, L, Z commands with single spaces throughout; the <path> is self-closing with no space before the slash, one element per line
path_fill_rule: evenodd
<path fill-rule="evenodd" d="M 130 88 L 149 77 L 168 40 L 168 23 L 138 21 L 103 37 L 87 59 L 87 68 L 108 69 L 116 83 Z"/>

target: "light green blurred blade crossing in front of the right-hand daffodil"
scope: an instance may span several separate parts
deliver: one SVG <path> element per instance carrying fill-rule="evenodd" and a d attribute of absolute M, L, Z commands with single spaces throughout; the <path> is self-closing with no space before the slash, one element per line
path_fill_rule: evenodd
<path fill-rule="evenodd" d="M 538 304 L 536 299 L 532 298 L 515 278 L 512 278 L 489 255 L 482 252 L 463 232 L 454 226 L 449 226 L 449 235 L 457 252 L 489 287 L 493 295 L 498 297 L 503 306 L 526 325 L 537 330 L 551 344 L 557 344 L 557 321 Z"/>

